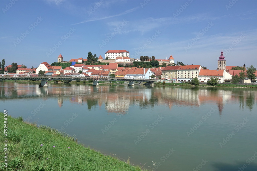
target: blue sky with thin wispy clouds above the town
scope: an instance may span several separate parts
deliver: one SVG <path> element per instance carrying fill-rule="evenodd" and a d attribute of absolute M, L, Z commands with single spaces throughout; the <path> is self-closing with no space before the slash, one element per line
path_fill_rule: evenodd
<path fill-rule="evenodd" d="M 217 68 L 257 65 L 257 1 L 0 1 L 0 61 L 28 68 L 42 62 L 170 55 L 183 64 Z"/>

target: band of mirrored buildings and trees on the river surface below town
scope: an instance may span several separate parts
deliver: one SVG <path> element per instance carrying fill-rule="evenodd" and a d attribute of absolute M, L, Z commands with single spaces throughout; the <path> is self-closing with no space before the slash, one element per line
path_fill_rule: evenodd
<path fill-rule="evenodd" d="M 57 105 L 64 101 L 87 104 L 88 110 L 102 106 L 108 112 L 125 114 L 130 105 L 141 109 L 154 108 L 154 105 L 200 107 L 203 104 L 215 104 L 219 115 L 223 114 L 224 104 L 238 103 L 241 109 L 252 110 L 257 101 L 257 91 L 245 88 L 217 87 L 154 87 L 127 85 L 50 84 L 49 88 L 40 88 L 38 83 L 1 82 L 1 100 L 10 98 L 57 98 Z M 118 93 L 117 93 L 118 92 Z"/>

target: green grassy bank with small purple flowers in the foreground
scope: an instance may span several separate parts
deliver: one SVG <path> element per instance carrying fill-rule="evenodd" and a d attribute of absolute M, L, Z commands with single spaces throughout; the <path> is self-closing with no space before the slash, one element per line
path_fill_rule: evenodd
<path fill-rule="evenodd" d="M 39 128 L 20 118 L 8 116 L 7 136 L 4 136 L 4 114 L 0 112 L 1 145 L 4 149 L 4 137 L 8 137 L 8 167 L 3 163 L 5 155 L 1 153 L 0 170 L 137 170 L 127 162 L 103 155 L 93 149 L 78 144 L 74 137 L 58 132 L 46 126 Z"/>

